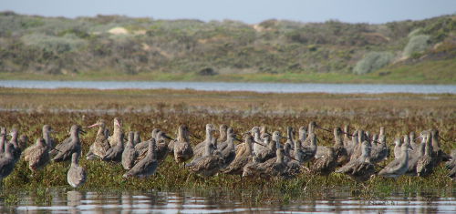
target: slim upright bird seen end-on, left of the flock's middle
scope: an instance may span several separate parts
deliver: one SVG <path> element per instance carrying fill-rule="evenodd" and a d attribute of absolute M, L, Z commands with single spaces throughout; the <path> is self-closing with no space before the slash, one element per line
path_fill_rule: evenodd
<path fill-rule="evenodd" d="M 176 140 L 173 140 L 174 160 L 177 163 L 185 163 L 185 161 L 193 157 L 193 149 L 189 140 L 189 127 L 181 125 L 178 128 L 178 135 Z M 185 165 L 184 165 L 185 166 Z"/>

